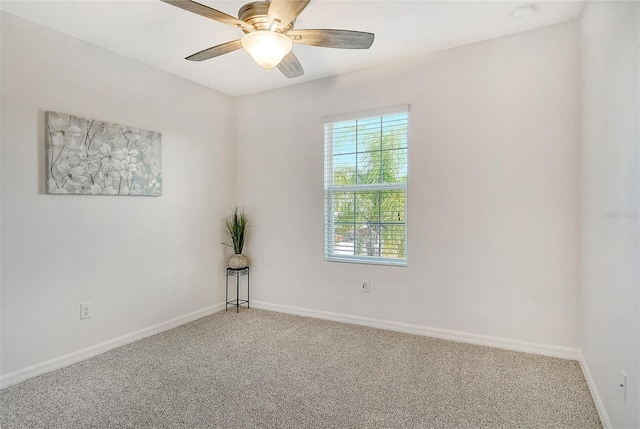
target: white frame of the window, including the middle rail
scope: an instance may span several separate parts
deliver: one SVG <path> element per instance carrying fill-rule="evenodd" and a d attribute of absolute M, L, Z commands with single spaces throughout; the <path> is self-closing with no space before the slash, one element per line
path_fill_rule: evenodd
<path fill-rule="evenodd" d="M 333 183 L 333 124 L 347 122 L 352 120 L 366 120 L 374 117 L 384 117 L 387 115 L 407 114 L 407 126 L 409 124 L 409 105 L 393 106 L 384 109 L 370 110 L 360 113 L 352 113 L 347 115 L 333 115 L 322 118 L 324 128 L 324 258 L 330 262 L 347 262 L 374 265 L 390 265 L 390 266 L 407 266 L 408 260 L 408 174 L 407 181 L 400 183 L 376 183 L 361 185 L 340 185 L 335 186 Z M 330 127 L 327 127 L 329 125 Z M 409 130 L 407 129 L 407 173 L 409 169 Z M 356 156 L 358 152 L 356 151 Z M 386 190 L 402 190 L 404 191 L 404 258 L 388 258 L 378 256 L 357 256 L 357 255 L 337 255 L 334 254 L 335 224 L 333 220 L 334 198 L 335 192 L 357 192 L 357 191 L 386 191 Z"/>

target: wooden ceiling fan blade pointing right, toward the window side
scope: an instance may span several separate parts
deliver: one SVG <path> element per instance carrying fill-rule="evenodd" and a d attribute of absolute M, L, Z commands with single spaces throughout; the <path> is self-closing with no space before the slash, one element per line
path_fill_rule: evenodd
<path fill-rule="evenodd" d="M 287 36 L 293 43 L 323 48 L 369 49 L 375 34 L 351 30 L 291 30 Z"/>

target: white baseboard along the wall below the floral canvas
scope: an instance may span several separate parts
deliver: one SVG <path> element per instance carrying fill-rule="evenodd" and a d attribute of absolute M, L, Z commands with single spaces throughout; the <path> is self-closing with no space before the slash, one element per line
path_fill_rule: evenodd
<path fill-rule="evenodd" d="M 157 325 L 150 326 L 148 328 L 141 329 L 130 334 L 123 335 L 118 338 L 114 338 L 109 341 L 105 341 L 100 344 L 96 344 L 91 347 L 87 347 L 82 350 L 78 350 L 73 353 L 69 353 L 64 356 L 60 356 L 55 359 L 48 360 L 36 365 L 29 366 L 27 368 L 20 369 L 9 374 L 0 376 L 0 389 L 20 383 L 29 378 L 33 378 L 40 374 L 50 372 L 65 366 L 69 366 L 76 362 L 88 359 L 93 356 L 97 356 L 109 350 L 113 350 L 117 347 L 124 346 L 125 344 L 133 343 L 134 341 L 141 340 L 151 335 L 159 334 L 160 332 L 168 331 L 185 323 L 189 323 L 196 319 L 200 319 L 210 314 L 217 313 L 224 310 L 224 304 L 217 304 L 211 307 L 203 308 L 202 310 L 194 311 L 193 313 L 185 314 L 183 316 L 176 317 L 175 319 L 167 320 L 166 322 L 158 323 Z"/>

